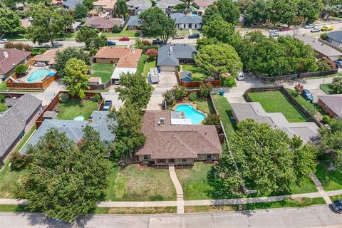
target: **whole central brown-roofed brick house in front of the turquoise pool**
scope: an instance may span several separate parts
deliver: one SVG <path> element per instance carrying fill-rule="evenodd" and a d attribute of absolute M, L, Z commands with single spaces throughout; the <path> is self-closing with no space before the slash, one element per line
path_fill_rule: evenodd
<path fill-rule="evenodd" d="M 147 110 L 142 120 L 145 145 L 135 159 L 142 165 L 194 165 L 215 161 L 222 147 L 214 125 L 176 125 L 177 115 L 168 110 Z"/>

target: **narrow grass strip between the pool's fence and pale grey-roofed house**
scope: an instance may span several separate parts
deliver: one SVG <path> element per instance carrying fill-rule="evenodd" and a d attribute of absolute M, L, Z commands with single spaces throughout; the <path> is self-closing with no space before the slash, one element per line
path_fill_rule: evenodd
<path fill-rule="evenodd" d="M 216 106 L 217 113 L 221 117 L 224 130 L 227 134 L 228 140 L 232 136 L 234 130 L 237 129 L 237 125 L 234 120 L 231 119 L 232 115 L 232 107 L 228 103 L 228 100 L 224 98 L 222 95 L 212 95 L 212 100 L 214 101 L 214 105 Z"/>

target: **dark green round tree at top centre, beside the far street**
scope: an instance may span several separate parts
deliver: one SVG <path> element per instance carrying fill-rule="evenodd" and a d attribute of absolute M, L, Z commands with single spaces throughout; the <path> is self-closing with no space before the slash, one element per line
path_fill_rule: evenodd
<path fill-rule="evenodd" d="M 166 16 L 162 9 L 152 7 L 143 11 L 139 18 L 144 36 L 160 38 L 162 43 L 175 36 L 175 21 Z"/>

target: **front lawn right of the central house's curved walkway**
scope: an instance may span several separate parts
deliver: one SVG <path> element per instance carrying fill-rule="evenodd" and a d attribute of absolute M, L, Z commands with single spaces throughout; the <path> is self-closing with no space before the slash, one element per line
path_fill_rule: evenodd
<path fill-rule="evenodd" d="M 176 170 L 178 180 L 183 187 L 184 197 L 190 199 L 210 199 L 207 194 L 211 187 L 207 184 L 207 172 L 212 165 L 195 162 L 191 169 Z"/>

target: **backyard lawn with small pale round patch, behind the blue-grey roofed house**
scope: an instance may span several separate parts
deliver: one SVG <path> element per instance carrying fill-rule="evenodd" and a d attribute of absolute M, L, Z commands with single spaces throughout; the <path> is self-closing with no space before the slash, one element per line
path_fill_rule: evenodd
<path fill-rule="evenodd" d="M 59 103 L 57 108 L 59 109 L 58 120 L 73 120 L 79 115 L 88 120 L 93 110 L 98 110 L 98 104 L 91 100 L 81 103 L 80 99 L 71 99 L 66 103 Z"/>

